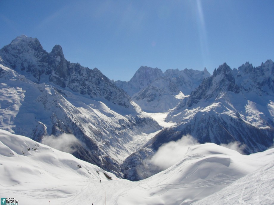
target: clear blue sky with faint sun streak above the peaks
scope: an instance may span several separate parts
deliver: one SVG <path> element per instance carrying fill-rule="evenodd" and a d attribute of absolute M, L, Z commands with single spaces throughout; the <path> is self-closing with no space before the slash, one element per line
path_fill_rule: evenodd
<path fill-rule="evenodd" d="M 212 74 L 274 60 L 273 0 L 0 0 L 0 48 L 21 34 L 114 80 L 141 65 Z"/>

